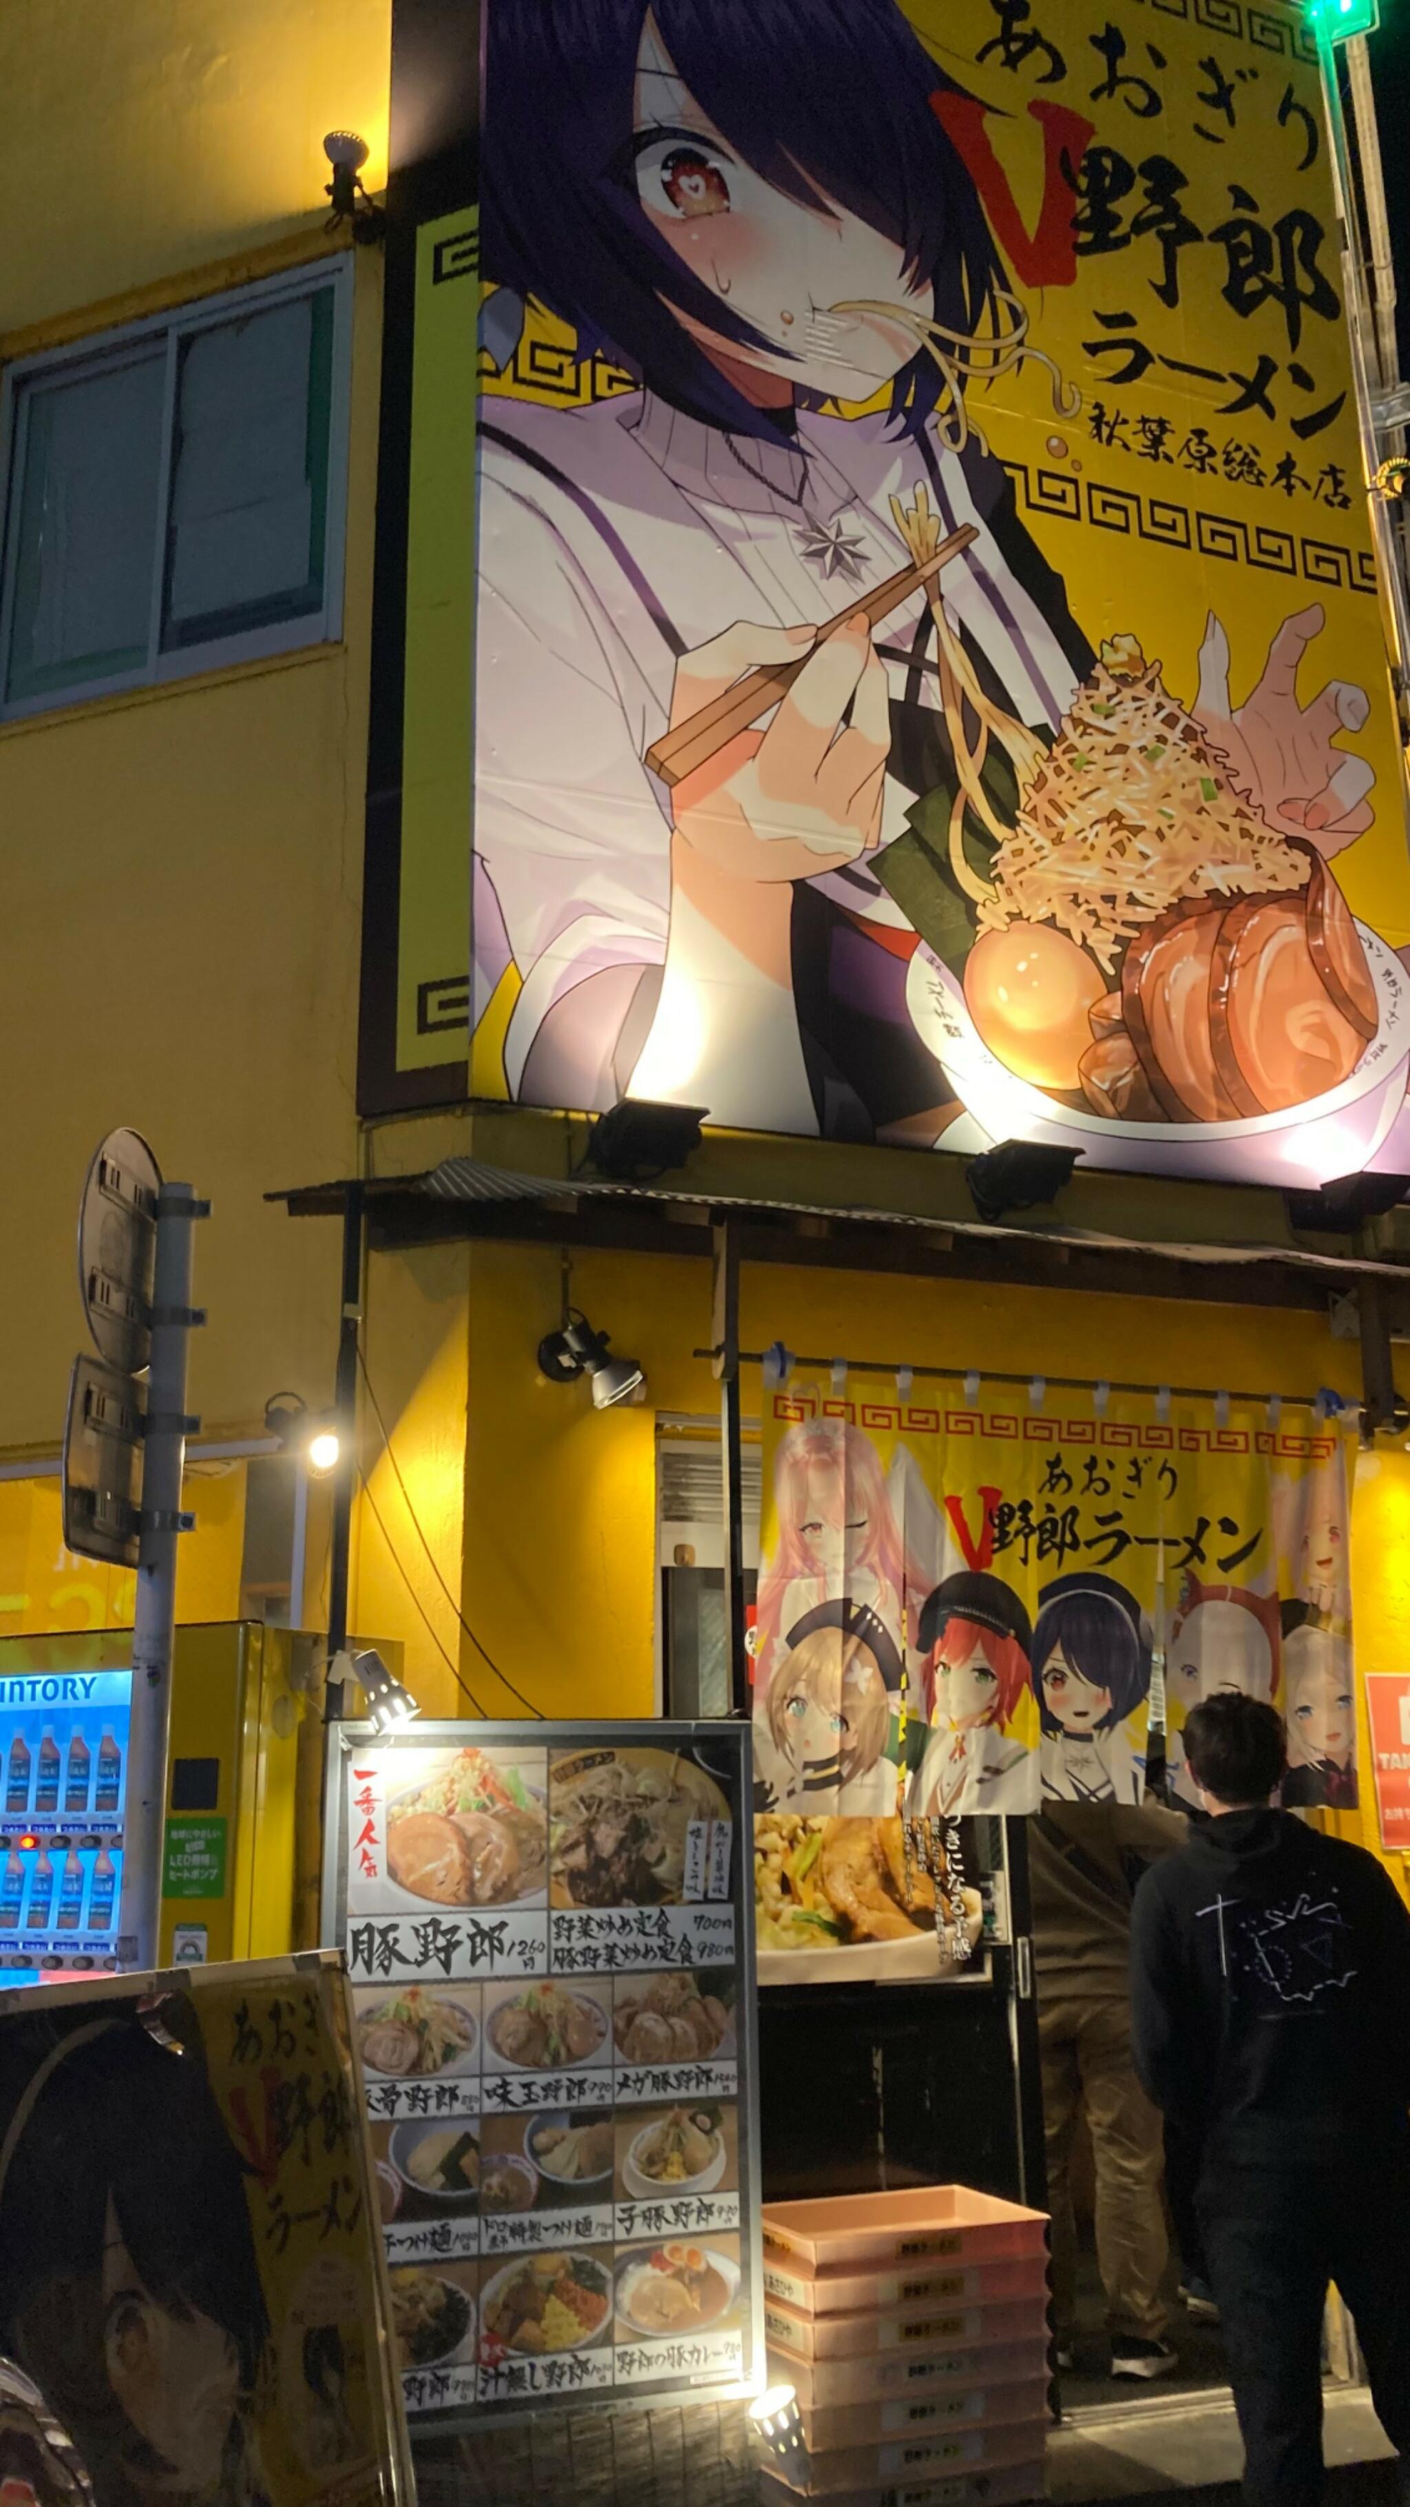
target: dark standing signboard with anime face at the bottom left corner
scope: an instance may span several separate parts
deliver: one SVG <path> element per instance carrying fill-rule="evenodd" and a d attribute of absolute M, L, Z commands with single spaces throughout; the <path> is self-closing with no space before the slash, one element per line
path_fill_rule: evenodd
<path fill-rule="evenodd" d="M 0 1996 L 0 2357 L 95 2507 L 414 2497 L 334 1955 Z"/>

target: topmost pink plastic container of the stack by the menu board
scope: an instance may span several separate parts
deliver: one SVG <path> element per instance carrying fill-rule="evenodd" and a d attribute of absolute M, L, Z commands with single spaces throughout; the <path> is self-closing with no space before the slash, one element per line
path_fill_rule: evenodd
<path fill-rule="evenodd" d="M 818 2271 L 886 2271 L 948 2261 L 999 2264 L 1044 2254 L 1046 2211 L 1024 2211 L 968 2186 L 908 2186 L 901 2194 L 830 2194 L 820 2201 L 770 2201 L 763 2251 L 795 2256 Z"/>

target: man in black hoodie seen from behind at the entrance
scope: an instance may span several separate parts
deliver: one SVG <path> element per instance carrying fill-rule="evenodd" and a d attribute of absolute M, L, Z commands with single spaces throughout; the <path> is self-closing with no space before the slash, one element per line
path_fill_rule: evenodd
<path fill-rule="evenodd" d="M 1360 1845 L 1270 1810 L 1272 1707 L 1184 1727 L 1209 1813 L 1137 1888 L 1137 2071 L 1202 2143 L 1249 2507 L 1322 2497 L 1322 2309 L 1345 2296 L 1410 2502 L 1410 1913 Z"/>

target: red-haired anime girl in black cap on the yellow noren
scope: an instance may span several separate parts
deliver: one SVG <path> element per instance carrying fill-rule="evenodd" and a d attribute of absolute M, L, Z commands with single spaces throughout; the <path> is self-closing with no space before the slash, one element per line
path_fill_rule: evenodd
<path fill-rule="evenodd" d="M 1039 1808 L 1034 1752 L 1009 1725 L 1029 1682 L 1029 1612 L 996 1574 L 966 1569 L 921 1609 L 923 1697 L 931 1740 L 911 1813 L 1021 1813 Z"/>

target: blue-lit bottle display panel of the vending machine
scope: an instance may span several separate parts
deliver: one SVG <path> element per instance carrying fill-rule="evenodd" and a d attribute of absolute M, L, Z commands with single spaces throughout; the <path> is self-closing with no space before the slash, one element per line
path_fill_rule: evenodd
<path fill-rule="evenodd" d="M 128 1670 L 0 1675 L 0 1983 L 115 1965 Z"/>

